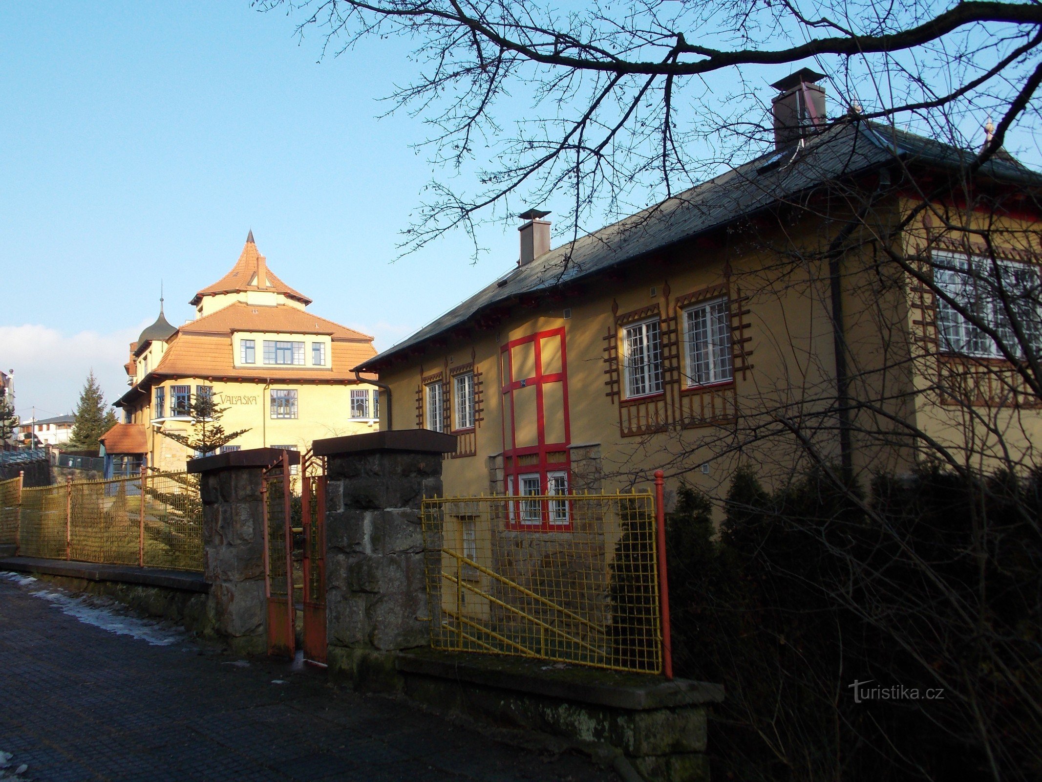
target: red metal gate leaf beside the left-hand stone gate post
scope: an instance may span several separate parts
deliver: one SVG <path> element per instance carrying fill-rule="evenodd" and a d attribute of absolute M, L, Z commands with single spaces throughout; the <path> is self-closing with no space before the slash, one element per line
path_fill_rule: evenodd
<path fill-rule="evenodd" d="M 264 505 L 264 590 L 268 601 L 268 654 L 296 653 L 293 579 L 292 486 L 290 455 L 266 468 L 260 483 Z"/>

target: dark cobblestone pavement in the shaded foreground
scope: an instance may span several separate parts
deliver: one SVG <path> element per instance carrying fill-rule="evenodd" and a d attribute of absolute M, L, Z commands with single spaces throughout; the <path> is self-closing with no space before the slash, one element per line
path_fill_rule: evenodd
<path fill-rule="evenodd" d="M 189 636 L 118 635 L 69 615 L 79 601 L 32 594 L 43 591 L 56 589 L 0 578 L 0 751 L 28 763 L 27 779 L 615 779 L 582 756 L 500 743 L 321 673 L 246 665 Z"/>

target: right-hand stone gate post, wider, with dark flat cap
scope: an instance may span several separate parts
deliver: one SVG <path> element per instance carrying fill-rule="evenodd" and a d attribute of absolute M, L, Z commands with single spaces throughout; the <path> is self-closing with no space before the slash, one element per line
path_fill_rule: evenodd
<path fill-rule="evenodd" d="M 399 430 L 312 447 L 328 460 L 329 668 L 359 688 L 394 688 L 392 653 L 429 643 L 420 504 L 442 493 L 442 455 L 455 437 Z"/>

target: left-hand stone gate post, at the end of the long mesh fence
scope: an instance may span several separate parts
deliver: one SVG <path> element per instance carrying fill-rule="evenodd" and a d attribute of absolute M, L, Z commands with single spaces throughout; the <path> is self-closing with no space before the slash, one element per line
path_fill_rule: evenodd
<path fill-rule="evenodd" d="M 189 462 L 199 474 L 203 568 L 214 628 L 237 654 L 267 651 L 268 607 L 264 589 L 264 468 L 279 448 L 233 450 Z M 300 455 L 290 451 L 290 464 Z"/>

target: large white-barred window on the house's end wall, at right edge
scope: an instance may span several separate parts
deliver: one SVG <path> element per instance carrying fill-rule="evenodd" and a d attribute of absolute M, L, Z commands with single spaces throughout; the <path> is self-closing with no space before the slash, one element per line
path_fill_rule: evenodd
<path fill-rule="evenodd" d="M 1042 288 L 1042 277 L 1040 270 L 1034 264 L 1017 261 L 1007 261 L 999 259 L 992 262 L 991 259 L 982 255 L 967 255 L 962 252 L 935 251 L 934 261 L 934 285 L 938 291 L 947 294 L 963 304 L 965 309 L 973 310 L 979 318 L 989 326 L 999 333 L 1000 338 L 1008 347 L 1020 350 L 1020 344 L 1016 340 L 1012 324 L 1009 322 L 1006 307 L 998 296 L 997 287 L 990 290 L 995 284 L 992 271 L 994 265 L 998 266 L 999 274 L 1006 276 L 1007 273 L 1014 272 L 1024 274 L 1034 273 L 1036 277 L 1034 295 L 1025 302 L 1019 301 L 1020 311 L 1017 313 L 1021 328 L 1029 339 L 1036 349 L 1042 348 L 1042 307 L 1038 297 Z M 948 268 L 945 268 L 948 267 Z M 1026 276 L 1026 275 L 1025 275 Z M 1010 283 L 1003 282 L 1003 291 L 1009 297 L 1011 294 L 1017 297 L 1017 291 L 1010 287 Z M 982 290 L 983 289 L 983 290 Z M 970 323 L 962 316 L 947 300 L 941 295 L 935 294 L 937 309 L 937 335 L 940 340 L 941 349 L 945 352 L 959 356 L 970 356 L 984 359 L 1006 358 L 998 349 L 995 341 Z M 1018 303 L 1017 298 L 1013 304 Z"/>

